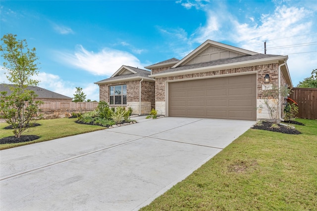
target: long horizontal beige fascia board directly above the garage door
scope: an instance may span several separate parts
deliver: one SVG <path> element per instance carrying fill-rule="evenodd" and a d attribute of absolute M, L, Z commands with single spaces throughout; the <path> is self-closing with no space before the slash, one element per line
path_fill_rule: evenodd
<path fill-rule="evenodd" d="M 175 72 L 158 73 L 158 74 L 150 75 L 149 77 L 163 78 L 168 76 L 178 76 L 178 75 L 185 75 L 185 74 L 191 74 L 191 73 L 202 73 L 206 71 L 217 71 L 217 70 L 223 70 L 228 68 L 239 68 L 239 67 L 247 67 L 247 66 L 254 66 L 254 65 L 262 65 L 262 64 L 267 64 L 268 62 L 278 63 L 279 60 L 284 60 L 284 59 L 287 59 L 287 56 L 277 56 L 277 57 L 270 57 L 270 58 L 264 58 L 264 59 L 235 62 L 230 64 L 222 64 L 222 65 L 201 67 L 201 68 L 195 68 L 195 69 L 180 70 Z"/>

